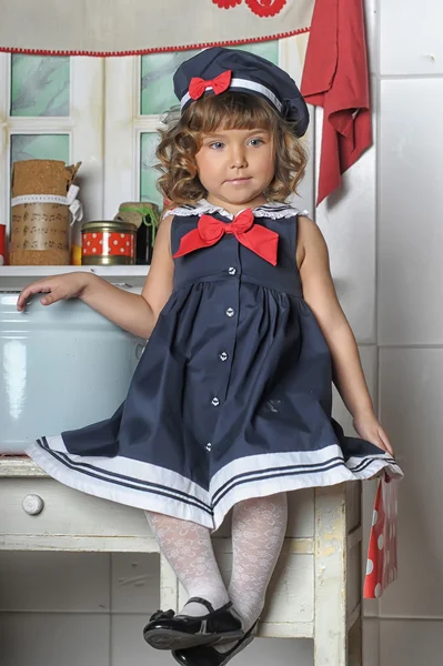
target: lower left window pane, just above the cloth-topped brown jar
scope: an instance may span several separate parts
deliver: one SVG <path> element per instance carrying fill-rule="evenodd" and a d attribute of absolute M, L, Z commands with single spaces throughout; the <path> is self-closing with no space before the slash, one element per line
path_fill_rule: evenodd
<path fill-rule="evenodd" d="M 69 134 L 12 134 L 11 163 L 20 160 L 63 160 L 69 164 Z"/>

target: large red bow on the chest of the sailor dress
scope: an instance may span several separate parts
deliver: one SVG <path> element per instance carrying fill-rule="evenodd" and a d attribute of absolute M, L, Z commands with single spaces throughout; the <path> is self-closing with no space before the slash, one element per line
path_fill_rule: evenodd
<path fill-rule="evenodd" d="M 212 215 L 202 215 L 198 228 L 182 236 L 180 248 L 173 258 L 214 245 L 225 233 L 234 234 L 239 243 L 249 248 L 272 265 L 276 265 L 279 234 L 260 224 L 255 225 L 251 209 L 239 213 L 233 222 L 220 222 Z"/>

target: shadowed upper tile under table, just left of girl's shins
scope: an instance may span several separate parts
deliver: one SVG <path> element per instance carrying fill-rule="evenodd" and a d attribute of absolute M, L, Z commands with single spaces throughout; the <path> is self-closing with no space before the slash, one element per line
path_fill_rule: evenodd
<path fill-rule="evenodd" d="M 159 577 L 159 555 L 113 553 L 111 610 L 154 613 L 160 603 Z"/>

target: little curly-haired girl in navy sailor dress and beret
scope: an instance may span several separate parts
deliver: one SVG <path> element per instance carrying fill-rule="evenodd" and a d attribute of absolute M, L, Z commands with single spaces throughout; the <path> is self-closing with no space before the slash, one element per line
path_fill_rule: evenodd
<path fill-rule="evenodd" d="M 253 638 L 286 527 L 286 493 L 402 475 L 338 302 L 319 229 L 288 199 L 303 176 L 308 109 L 270 62 L 212 48 L 174 75 L 181 117 L 158 149 L 173 202 L 141 295 L 89 273 L 18 301 L 80 297 L 150 339 L 108 421 L 42 437 L 29 455 L 85 493 L 137 506 L 190 598 L 144 628 L 189 666 Z M 332 377 L 362 440 L 331 418 Z M 226 589 L 211 545 L 232 509 Z"/>

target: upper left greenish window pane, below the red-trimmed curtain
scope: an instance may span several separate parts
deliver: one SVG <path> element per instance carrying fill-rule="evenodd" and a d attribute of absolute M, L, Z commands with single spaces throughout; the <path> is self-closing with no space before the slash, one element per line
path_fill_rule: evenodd
<path fill-rule="evenodd" d="M 16 54 L 11 62 L 11 115 L 69 115 L 69 58 Z"/>

